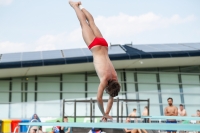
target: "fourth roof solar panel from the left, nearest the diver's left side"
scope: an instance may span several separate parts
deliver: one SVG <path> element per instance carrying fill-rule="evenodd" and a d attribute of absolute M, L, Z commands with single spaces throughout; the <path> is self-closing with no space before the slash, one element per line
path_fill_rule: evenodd
<path fill-rule="evenodd" d="M 66 49 L 63 50 L 64 57 L 83 57 L 86 56 L 82 49 Z"/>

